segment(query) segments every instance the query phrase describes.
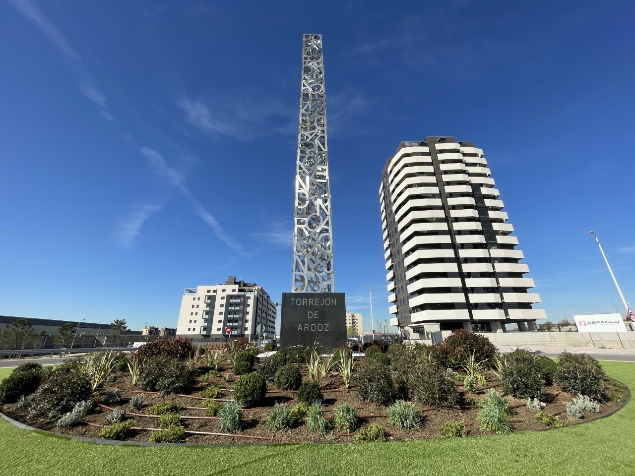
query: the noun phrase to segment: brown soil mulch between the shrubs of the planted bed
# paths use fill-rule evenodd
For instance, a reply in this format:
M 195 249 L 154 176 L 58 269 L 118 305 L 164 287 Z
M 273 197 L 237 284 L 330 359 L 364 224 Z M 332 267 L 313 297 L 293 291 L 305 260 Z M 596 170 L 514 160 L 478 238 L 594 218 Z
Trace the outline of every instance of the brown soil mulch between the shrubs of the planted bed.
M 201 373 L 204 373 L 204 370 L 205 369 L 201 369 Z M 213 380 L 212 383 L 220 383 L 221 388 L 227 389 L 232 388 L 233 381 L 237 378 L 237 376 L 232 375 L 231 369 L 229 368 L 221 371 L 219 373 L 219 376 L 224 377 L 225 380 L 218 378 Z M 502 393 L 502 391 L 498 387 L 498 381 L 495 379 L 495 376 L 492 373 L 486 373 L 486 378 L 486 385 L 477 386 L 476 393 L 474 394 L 466 393 L 465 389 L 461 386 L 462 382 L 457 381 L 457 388 L 462 399 L 467 399 L 468 402 L 470 401 L 470 399 L 478 400 L 482 397 L 487 388 L 496 388 L 499 393 Z M 307 380 L 307 378 L 304 377 L 304 380 Z M 570 393 L 564 392 L 557 385 L 545 387 L 546 397 L 543 399 L 543 401 L 546 403 L 546 407 L 544 407 L 544 411 L 558 416 L 558 419 L 561 420 L 565 426 L 602 418 L 603 416 L 606 416 L 607 414 L 613 413 L 620 409 L 629 399 L 629 391 L 624 390 L 625 387 L 622 384 L 616 382 L 617 381 L 614 381 L 612 379 L 607 380 L 606 388 L 608 397 L 606 401 L 599 402 L 599 413 L 591 413 L 585 411 L 582 419 L 571 418 L 566 414 L 565 404 L 566 402 L 572 401 L 573 397 L 575 397 L 576 395 L 571 395 Z M 203 390 L 206 385 L 208 384 L 197 383 L 194 387 L 190 388 L 190 392 L 188 393 L 188 395 L 197 396 L 197 393 Z M 99 407 L 98 405 L 104 404 L 106 393 L 108 392 L 108 390 L 112 390 L 114 388 L 120 389 L 123 392 L 124 400 L 118 405 L 122 408 L 125 408 L 126 411 L 134 413 L 135 410 L 131 409 L 130 406 L 128 406 L 128 401 L 133 395 L 135 395 L 135 393 L 138 393 L 133 392 L 132 390 L 138 389 L 131 388 L 127 373 L 116 374 L 116 380 L 114 382 L 105 383 L 102 388 L 95 392 L 92 397 L 92 399 L 95 401 L 95 409 L 82 419 L 80 425 L 73 426 L 71 428 L 57 428 L 57 426 L 55 426 L 55 421 L 29 419 L 28 416 L 30 406 L 27 406 L 20 411 L 13 411 L 11 409 L 11 404 L 5 404 L 3 406 L 0 406 L 0 411 L 10 418 L 13 418 L 13 420 L 20 421 L 22 423 L 25 423 L 26 425 L 34 426 L 35 428 L 39 428 L 41 430 L 61 433 L 64 435 L 98 438 L 100 428 L 98 428 L 97 426 L 87 425 L 87 423 L 93 423 L 97 425 L 107 424 L 105 417 L 109 413 L 109 410 L 105 409 L 104 407 Z M 467 428 L 469 436 L 485 435 L 489 433 L 479 430 L 478 421 L 476 421 L 478 409 L 476 409 L 474 406 L 466 405 L 451 409 L 431 409 L 420 406 L 420 410 L 422 411 L 422 414 L 424 416 L 423 424 L 420 430 L 406 432 L 400 430 L 399 428 L 388 426 L 387 418 L 385 416 L 387 411 L 386 407 L 361 402 L 356 396 L 354 388 L 346 390 L 342 385 L 341 380 L 338 380 L 338 378 L 336 377 L 329 378 L 323 381 L 322 392 L 324 393 L 324 405 L 326 405 L 327 412 L 332 411 L 333 407 L 335 407 L 337 404 L 347 402 L 351 406 L 356 407 L 358 414 L 361 417 L 359 421 L 359 427 L 369 425 L 370 423 L 378 423 L 385 428 L 387 432 L 387 440 L 407 441 L 438 438 L 439 426 L 443 425 L 443 423 L 445 423 L 446 421 L 451 420 L 463 421 L 465 427 Z M 232 392 L 225 391 L 222 393 L 224 396 L 220 398 L 231 399 Z M 612 396 L 613 398 L 610 398 Z M 525 406 L 525 400 L 514 399 L 513 397 L 509 396 L 505 398 L 509 400 L 512 408 L 514 408 L 514 416 L 509 420 L 512 422 L 511 425 L 514 432 L 544 430 L 545 428 L 547 428 L 543 423 L 535 420 L 534 416 L 537 412 L 528 409 Z M 614 400 L 620 400 L 620 402 Z M 177 402 L 184 408 L 190 407 L 190 409 L 182 410 L 180 413 L 181 416 L 204 416 L 205 414 L 204 409 L 192 408 L 201 407 L 202 400 L 200 399 L 180 397 L 176 395 L 167 395 L 165 397 L 161 397 L 160 395 L 154 395 L 152 393 L 144 394 L 144 405 L 139 413 L 147 413 L 147 408 L 149 406 L 168 401 Z M 240 432 L 240 434 L 266 437 L 266 439 L 246 439 L 230 436 L 187 434 L 187 439 L 185 440 L 185 442 L 187 444 L 263 444 L 269 442 L 353 442 L 355 440 L 354 434 L 343 435 L 337 429 L 331 430 L 331 433 L 327 433 L 324 436 L 320 436 L 316 433 L 309 433 L 304 424 L 298 425 L 297 427 L 290 428 L 288 430 L 272 432 L 272 430 L 269 430 L 269 428 L 267 428 L 266 418 L 267 414 L 271 411 L 271 408 L 274 406 L 275 402 L 288 402 L 290 404 L 297 404 L 298 400 L 296 393 L 280 392 L 279 390 L 276 390 L 272 383 L 268 383 L 267 395 L 265 399 L 260 402 L 258 406 L 244 409 L 244 418 L 246 420 L 246 425 Z M 327 413 L 327 416 L 328 414 L 329 413 Z M 144 428 L 157 428 L 155 418 L 128 416 L 128 419 L 133 421 L 133 427 L 138 426 Z M 218 420 L 182 420 L 182 425 L 185 427 L 186 431 L 213 433 L 221 432 Z M 126 436 L 126 440 L 133 442 L 147 442 L 149 441 L 150 433 L 151 432 L 144 430 L 130 430 L 130 432 Z

